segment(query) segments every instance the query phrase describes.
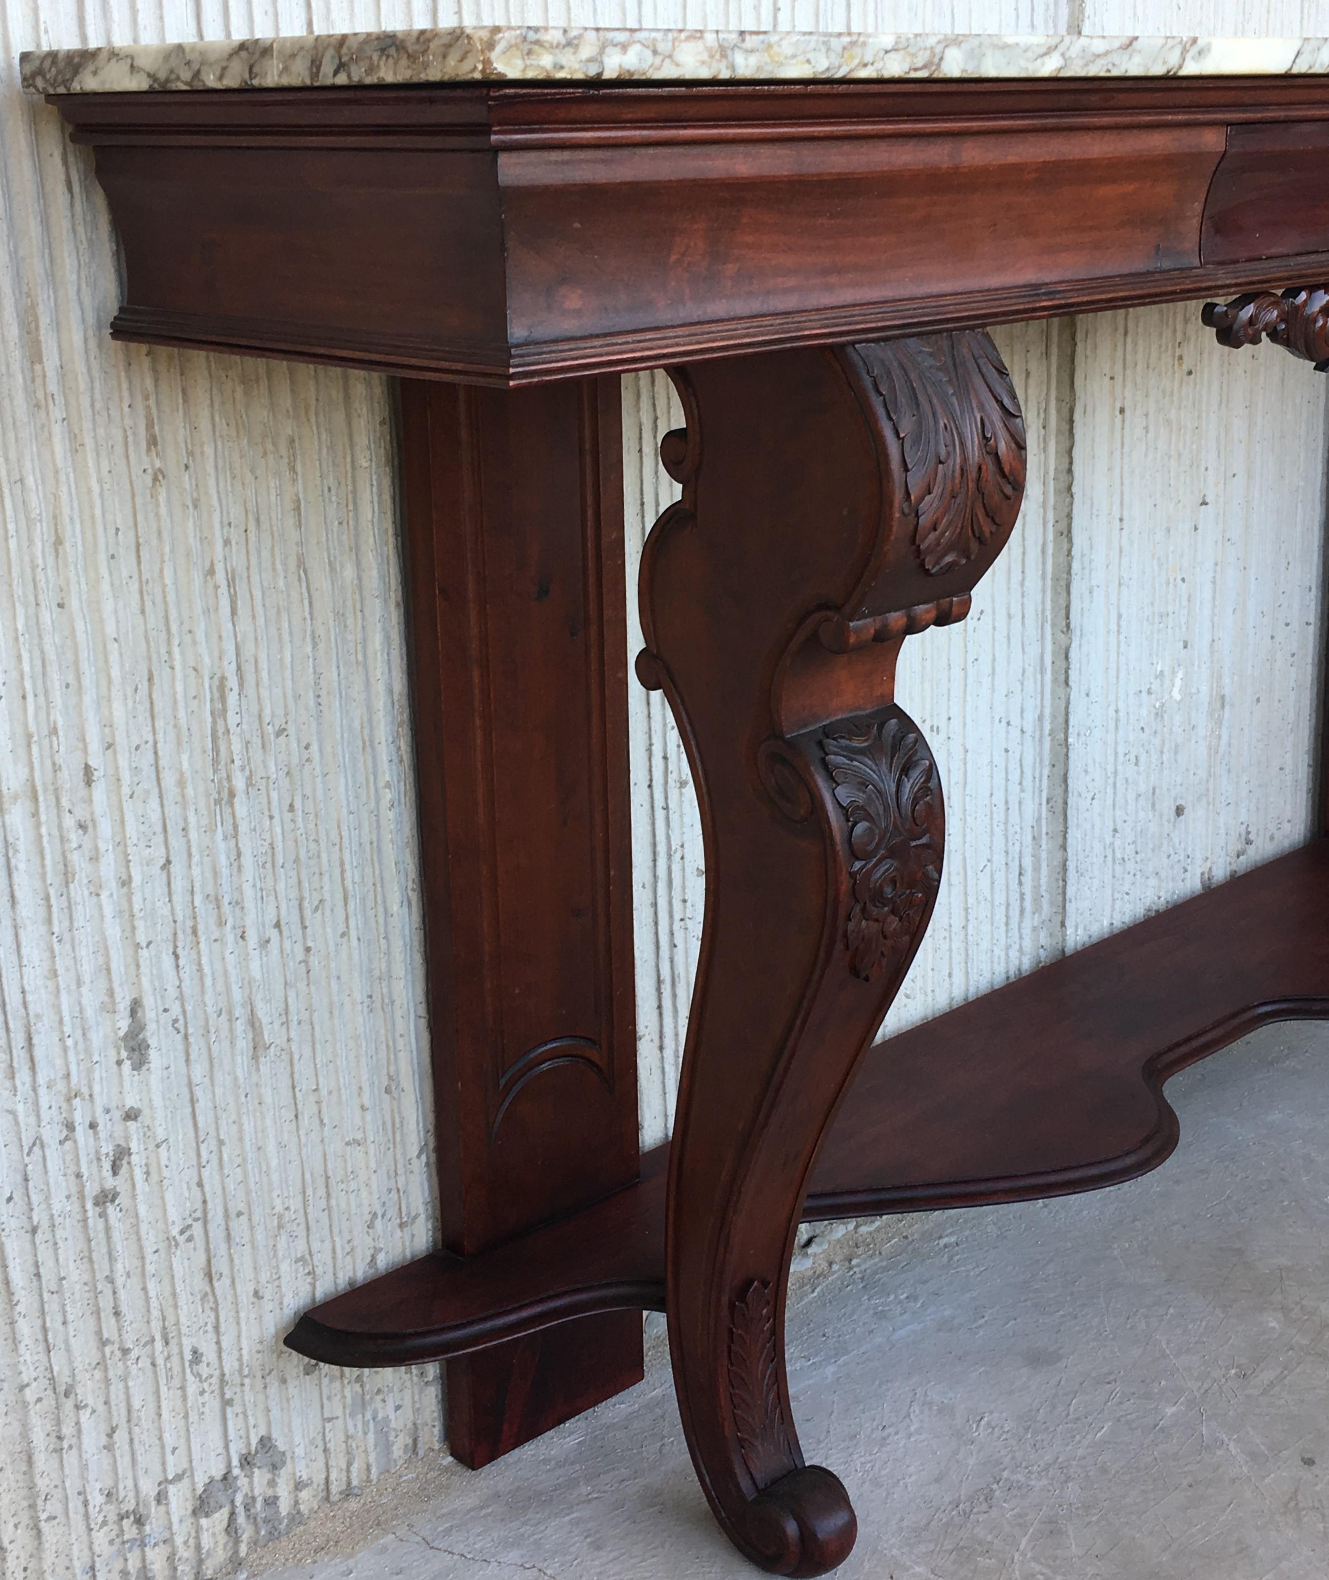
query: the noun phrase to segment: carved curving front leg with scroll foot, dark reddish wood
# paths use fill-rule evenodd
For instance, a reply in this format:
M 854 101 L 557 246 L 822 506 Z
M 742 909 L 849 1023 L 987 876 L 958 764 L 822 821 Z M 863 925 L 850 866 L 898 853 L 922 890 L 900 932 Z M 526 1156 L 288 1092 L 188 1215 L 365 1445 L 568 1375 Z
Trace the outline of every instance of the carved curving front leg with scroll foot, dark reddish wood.
M 774 1574 L 853 1545 L 804 1466 L 784 1302 L 820 1139 L 928 924 L 942 790 L 894 706 L 910 632 L 967 613 L 1015 525 L 1024 433 L 962 332 L 698 363 L 664 444 L 683 501 L 642 566 L 638 676 L 695 774 L 706 920 L 668 1190 L 667 1305 L 697 1473 Z

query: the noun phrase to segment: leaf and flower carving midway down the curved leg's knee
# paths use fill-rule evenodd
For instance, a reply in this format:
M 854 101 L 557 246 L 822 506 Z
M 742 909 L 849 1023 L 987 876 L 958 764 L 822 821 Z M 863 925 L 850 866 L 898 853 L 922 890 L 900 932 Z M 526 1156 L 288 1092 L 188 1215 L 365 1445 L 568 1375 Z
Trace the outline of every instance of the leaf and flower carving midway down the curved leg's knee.
M 937 765 L 899 714 L 838 724 L 823 732 L 822 752 L 849 823 L 849 969 L 872 981 L 913 946 L 942 880 Z

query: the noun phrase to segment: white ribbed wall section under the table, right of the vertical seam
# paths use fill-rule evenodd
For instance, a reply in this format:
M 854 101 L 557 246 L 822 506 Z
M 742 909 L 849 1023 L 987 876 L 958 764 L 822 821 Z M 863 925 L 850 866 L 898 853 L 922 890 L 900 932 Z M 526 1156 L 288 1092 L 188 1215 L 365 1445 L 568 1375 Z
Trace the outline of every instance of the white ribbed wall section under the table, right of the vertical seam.
M 1310 833 L 1326 379 L 1199 307 L 1076 325 L 1070 946 Z

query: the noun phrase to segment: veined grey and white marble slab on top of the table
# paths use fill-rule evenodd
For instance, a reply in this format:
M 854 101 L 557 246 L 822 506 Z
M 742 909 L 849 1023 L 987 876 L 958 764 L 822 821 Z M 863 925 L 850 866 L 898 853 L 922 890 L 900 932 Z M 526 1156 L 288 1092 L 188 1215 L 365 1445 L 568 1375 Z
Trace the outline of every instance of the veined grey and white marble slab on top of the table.
M 447 27 L 32 51 L 30 93 L 408 82 L 787 82 L 1329 74 L 1329 38 Z

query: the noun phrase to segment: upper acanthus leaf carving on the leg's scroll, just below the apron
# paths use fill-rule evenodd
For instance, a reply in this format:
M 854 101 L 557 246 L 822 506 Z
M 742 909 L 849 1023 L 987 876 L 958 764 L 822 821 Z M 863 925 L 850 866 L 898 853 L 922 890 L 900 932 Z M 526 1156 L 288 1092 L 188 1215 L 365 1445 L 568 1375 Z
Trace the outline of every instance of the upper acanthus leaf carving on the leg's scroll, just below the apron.
M 1015 526 L 1024 496 L 1024 417 L 981 329 L 857 348 L 904 453 L 923 569 L 969 564 Z

